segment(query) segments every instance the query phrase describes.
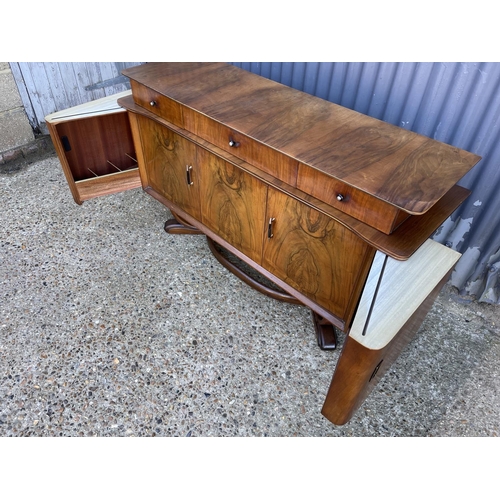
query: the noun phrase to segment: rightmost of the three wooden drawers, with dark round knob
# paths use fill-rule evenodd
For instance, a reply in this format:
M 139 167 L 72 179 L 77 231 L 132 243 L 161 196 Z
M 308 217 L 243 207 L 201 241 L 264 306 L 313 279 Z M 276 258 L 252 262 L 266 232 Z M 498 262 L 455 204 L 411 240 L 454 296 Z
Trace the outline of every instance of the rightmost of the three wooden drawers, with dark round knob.
M 391 234 L 410 214 L 299 163 L 297 188 L 385 234 Z

